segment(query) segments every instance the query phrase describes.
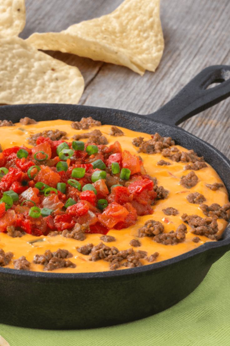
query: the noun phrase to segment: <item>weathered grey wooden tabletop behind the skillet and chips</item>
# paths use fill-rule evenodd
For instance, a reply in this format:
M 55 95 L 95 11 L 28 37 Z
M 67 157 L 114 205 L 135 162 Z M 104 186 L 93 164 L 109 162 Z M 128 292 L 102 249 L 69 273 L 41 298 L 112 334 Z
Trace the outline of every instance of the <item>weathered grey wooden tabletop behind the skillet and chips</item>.
M 61 31 L 82 20 L 113 11 L 122 0 L 26 0 L 27 23 L 20 37 Z M 165 49 L 155 73 L 143 77 L 126 67 L 76 55 L 48 52 L 77 66 L 85 90 L 80 104 L 140 114 L 157 110 L 209 65 L 230 65 L 229 0 L 161 0 Z M 180 126 L 206 140 L 230 158 L 230 99 Z

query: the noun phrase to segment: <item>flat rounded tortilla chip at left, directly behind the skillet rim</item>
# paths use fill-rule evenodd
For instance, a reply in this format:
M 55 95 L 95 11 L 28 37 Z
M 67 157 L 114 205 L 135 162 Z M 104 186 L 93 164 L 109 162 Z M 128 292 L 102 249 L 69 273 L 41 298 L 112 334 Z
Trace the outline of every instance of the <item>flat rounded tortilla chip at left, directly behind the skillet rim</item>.
M 78 103 L 84 80 L 77 67 L 16 36 L 0 36 L 0 47 L 0 103 Z

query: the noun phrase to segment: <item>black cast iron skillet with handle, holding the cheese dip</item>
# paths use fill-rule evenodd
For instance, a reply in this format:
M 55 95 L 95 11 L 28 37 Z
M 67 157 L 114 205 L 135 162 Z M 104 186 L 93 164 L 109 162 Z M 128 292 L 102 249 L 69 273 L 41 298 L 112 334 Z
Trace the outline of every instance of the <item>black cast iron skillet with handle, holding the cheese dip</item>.
M 32 104 L 3 106 L 0 118 L 17 122 L 25 116 L 36 120 L 80 120 L 92 116 L 104 124 L 150 134 L 159 132 L 203 155 L 230 192 L 229 160 L 211 145 L 175 126 L 227 98 L 229 76 L 230 66 L 210 66 L 148 116 L 68 104 Z M 207 89 L 214 82 L 221 84 Z M 230 227 L 219 242 L 205 243 L 167 261 L 122 271 L 60 274 L 0 268 L 0 322 L 71 329 L 109 326 L 147 317 L 185 298 L 229 249 Z

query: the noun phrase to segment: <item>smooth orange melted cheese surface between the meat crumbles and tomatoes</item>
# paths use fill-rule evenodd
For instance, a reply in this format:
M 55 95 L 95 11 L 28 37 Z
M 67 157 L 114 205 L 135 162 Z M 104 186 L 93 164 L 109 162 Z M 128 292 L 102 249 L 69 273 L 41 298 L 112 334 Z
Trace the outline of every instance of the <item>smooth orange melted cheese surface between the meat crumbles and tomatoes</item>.
M 91 127 L 89 130 L 75 130 L 71 126 L 71 121 L 67 120 L 52 120 L 52 121 L 41 121 L 37 124 L 32 125 L 21 125 L 16 124 L 16 126 L 12 127 L 0 127 L 0 143 L 2 149 L 12 147 L 12 146 L 21 146 L 28 145 L 27 138 L 34 133 L 39 133 L 44 130 L 55 130 L 59 129 L 67 132 L 67 137 L 71 142 L 71 137 L 77 133 L 85 133 L 92 131 L 93 129 L 100 129 L 100 131 L 105 135 L 108 139 L 109 144 L 114 143 L 118 140 L 122 146 L 123 150 L 128 150 L 132 154 L 137 154 L 137 148 L 133 146 L 132 139 L 135 137 L 144 137 L 144 139 L 148 140 L 151 138 L 150 135 L 145 133 L 138 133 L 131 131 L 129 129 L 120 128 L 124 136 L 114 137 L 110 136 L 109 132 L 111 129 L 110 125 L 102 125 L 100 127 Z M 176 146 L 180 151 L 187 151 L 181 146 Z M 192 149 L 192 148 L 189 148 Z M 153 208 L 153 214 L 147 216 L 138 217 L 137 223 L 129 228 L 115 230 L 111 229 L 108 235 L 114 236 L 116 238 L 115 242 L 105 243 L 108 246 L 116 246 L 119 250 L 125 250 L 130 248 L 129 242 L 131 239 L 139 239 L 141 242 L 141 246 L 138 248 L 134 248 L 134 250 L 142 250 L 147 251 L 148 256 L 153 254 L 154 252 L 159 252 L 159 256 L 157 261 L 167 260 L 171 257 L 178 256 L 184 252 L 190 251 L 205 242 L 210 242 L 207 237 L 199 236 L 201 241 L 199 243 L 192 242 L 192 238 L 194 234 L 191 233 L 191 228 L 187 226 L 188 233 L 186 234 L 186 240 L 183 243 L 179 243 L 177 245 L 162 245 L 154 242 L 151 237 L 142 237 L 138 238 L 138 229 L 144 225 L 144 223 L 153 219 L 156 221 L 162 222 L 164 225 L 164 229 L 166 232 L 171 230 L 176 231 L 177 227 L 182 223 L 181 215 L 183 213 L 187 213 L 188 215 L 197 214 L 201 217 L 205 217 L 203 212 L 199 209 L 199 204 L 189 203 L 186 197 L 191 192 L 199 192 L 204 195 L 206 198 L 206 204 L 210 205 L 212 203 L 218 203 L 221 206 L 228 202 L 228 194 L 225 187 L 220 188 L 217 191 L 212 191 L 207 188 L 206 184 L 213 183 L 221 183 L 221 179 L 214 171 L 214 169 L 208 165 L 206 168 L 202 168 L 201 170 L 196 171 L 196 175 L 199 178 L 199 181 L 196 186 L 191 189 L 186 189 L 179 184 L 181 176 L 188 174 L 190 171 L 185 171 L 183 167 L 186 163 L 182 162 L 173 162 L 168 158 L 164 158 L 161 154 L 138 154 L 143 159 L 143 165 L 146 169 L 147 174 L 150 176 L 156 177 L 158 180 L 158 185 L 162 185 L 165 189 L 169 190 L 168 198 L 165 200 L 159 200 L 156 202 Z M 170 161 L 171 165 L 169 166 L 159 166 L 157 162 L 161 159 L 166 161 Z M 162 209 L 167 207 L 176 208 L 179 211 L 177 216 L 167 216 L 163 213 Z M 168 222 L 165 222 L 168 221 Z M 218 219 L 218 234 L 222 234 L 223 230 L 227 226 L 227 221 L 223 219 Z M 92 243 L 93 245 L 97 245 L 101 242 L 100 234 L 87 234 L 87 237 L 83 241 L 64 238 L 61 235 L 49 237 L 49 236 L 41 236 L 35 237 L 29 234 L 22 236 L 21 238 L 12 238 L 7 234 L 0 233 L 0 248 L 2 248 L 5 252 L 11 251 L 14 256 L 11 260 L 10 264 L 7 266 L 9 268 L 13 268 L 13 260 L 19 258 L 20 256 L 26 256 L 27 260 L 31 262 L 31 270 L 32 271 L 42 271 L 43 266 L 38 264 L 33 264 L 33 257 L 36 254 L 43 254 L 47 249 L 50 249 L 52 252 L 56 251 L 58 248 L 64 248 L 69 250 L 73 257 L 70 260 L 76 264 L 76 268 L 60 268 L 54 270 L 53 272 L 98 272 L 98 271 L 108 271 L 109 262 L 104 260 L 99 260 L 96 262 L 89 261 L 90 256 L 85 256 L 77 252 L 76 247 L 81 247 L 82 245 L 86 245 L 88 243 Z M 31 240 L 41 241 L 30 244 Z M 141 259 L 142 264 L 150 264 L 147 260 Z M 119 268 L 119 270 L 124 269 L 125 267 Z

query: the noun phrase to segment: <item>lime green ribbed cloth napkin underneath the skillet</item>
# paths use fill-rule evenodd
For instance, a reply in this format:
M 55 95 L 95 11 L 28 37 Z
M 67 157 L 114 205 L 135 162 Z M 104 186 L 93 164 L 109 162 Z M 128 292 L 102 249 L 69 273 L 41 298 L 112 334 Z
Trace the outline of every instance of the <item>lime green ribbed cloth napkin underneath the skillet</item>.
M 186 299 L 157 315 L 114 327 L 39 330 L 0 324 L 10 346 L 229 346 L 230 252 Z

